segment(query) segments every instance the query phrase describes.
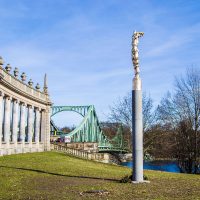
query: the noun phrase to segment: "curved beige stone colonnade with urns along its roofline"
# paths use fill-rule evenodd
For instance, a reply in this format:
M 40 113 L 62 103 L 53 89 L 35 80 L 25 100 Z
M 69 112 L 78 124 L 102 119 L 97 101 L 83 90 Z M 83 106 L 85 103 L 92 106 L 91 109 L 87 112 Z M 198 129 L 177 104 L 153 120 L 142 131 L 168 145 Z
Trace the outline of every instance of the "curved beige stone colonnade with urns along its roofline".
M 46 75 L 44 88 L 33 87 L 17 68 L 11 74 L 0 57 L 0 155 L 50 150 L 51 101 Z

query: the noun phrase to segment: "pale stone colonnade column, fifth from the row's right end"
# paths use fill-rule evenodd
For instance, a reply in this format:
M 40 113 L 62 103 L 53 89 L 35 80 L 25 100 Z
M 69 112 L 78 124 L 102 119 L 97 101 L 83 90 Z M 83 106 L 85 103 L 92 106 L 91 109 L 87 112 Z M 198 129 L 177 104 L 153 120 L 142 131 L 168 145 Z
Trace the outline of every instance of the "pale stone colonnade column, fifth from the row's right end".
M 6 148 L 9 148 L 10 144 L 10 97 L 5 97 L 5 117 L 4 117 L 4 141 L 6 142 Z

